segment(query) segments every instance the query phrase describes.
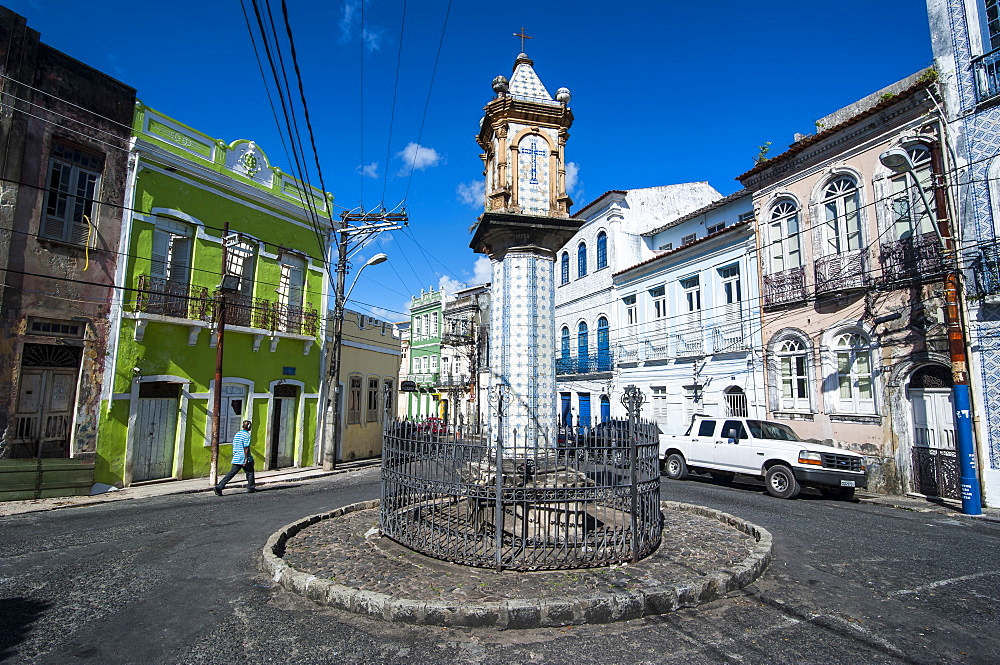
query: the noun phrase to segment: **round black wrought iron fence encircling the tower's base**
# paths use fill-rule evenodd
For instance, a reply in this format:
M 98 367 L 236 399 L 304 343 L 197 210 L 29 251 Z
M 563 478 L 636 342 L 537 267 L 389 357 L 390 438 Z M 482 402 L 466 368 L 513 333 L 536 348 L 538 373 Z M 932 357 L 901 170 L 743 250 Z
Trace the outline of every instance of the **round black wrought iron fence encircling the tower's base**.
M 390 423 L 382 533 L 428 556 L 498 570 L 634 562 L 659 546 L 654 423 L 559 428 L 538 440 L 504 441 L 499 431 Z

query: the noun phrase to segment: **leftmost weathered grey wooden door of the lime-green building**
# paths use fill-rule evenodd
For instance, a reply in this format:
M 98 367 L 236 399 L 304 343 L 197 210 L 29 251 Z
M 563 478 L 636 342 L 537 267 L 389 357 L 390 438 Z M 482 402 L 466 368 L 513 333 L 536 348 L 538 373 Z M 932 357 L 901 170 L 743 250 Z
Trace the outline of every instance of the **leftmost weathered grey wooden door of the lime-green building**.
M 173 475 L 178 400 L 172 397 L 139 399 L 135 420 L 132 480 L 155 480 Z

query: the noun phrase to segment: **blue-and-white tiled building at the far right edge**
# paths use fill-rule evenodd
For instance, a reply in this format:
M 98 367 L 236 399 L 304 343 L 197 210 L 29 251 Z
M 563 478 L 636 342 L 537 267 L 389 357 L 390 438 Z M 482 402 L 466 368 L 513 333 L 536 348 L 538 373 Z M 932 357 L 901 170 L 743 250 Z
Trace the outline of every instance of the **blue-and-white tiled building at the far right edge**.
M 927 0 L 949 136 L 983 499 L 1000 505 L 1000 5 Z

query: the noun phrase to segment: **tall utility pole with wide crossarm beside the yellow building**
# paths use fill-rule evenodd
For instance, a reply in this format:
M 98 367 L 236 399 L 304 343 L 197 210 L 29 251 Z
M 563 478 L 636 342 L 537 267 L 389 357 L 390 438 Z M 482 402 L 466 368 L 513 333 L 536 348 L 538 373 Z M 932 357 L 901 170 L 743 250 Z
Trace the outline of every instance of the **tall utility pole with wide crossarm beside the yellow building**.
M 329 374 L 329 380 L 333 383 L 333 436 L 323 439 L 323 469 L 326 471 L 332 471 L 336 467 L 337 453 L 343 443 L 341 411 L 344 409 L 344 398 L 340 390 L 340 366 L 341 344 L 344 338 L 344 307 L 347 304 L 344 287 L 347 281 L 347 270 L 350 267 L 348 259 L 352 250 L 364 247 L 382 231 L 403 228 L 408 221 L 405 210 L 388 212 L 384 209 L 375 212 L 351 210 L 342 213 L 340 218 L 342 226 L 339 229 L 334 229 L 334 232 L 338 234 L 337 283 L 334 287 L 333 305 L 333 359 L 330 362 Z M 382 258 L 385 258 L 384 255 Z

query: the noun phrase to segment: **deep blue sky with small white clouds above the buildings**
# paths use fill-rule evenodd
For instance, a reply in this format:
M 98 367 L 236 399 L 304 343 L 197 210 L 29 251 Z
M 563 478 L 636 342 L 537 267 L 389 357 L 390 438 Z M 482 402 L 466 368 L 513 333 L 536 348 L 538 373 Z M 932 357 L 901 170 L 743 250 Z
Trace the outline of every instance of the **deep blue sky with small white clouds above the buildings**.
M 0 3 L 149 106 L 227 142 L 255 140 L 293 170 L 239 0 Z M 521 26 L 542 82 L 573 94 L 574 209 L 609 189 L 678 182 L 729 194 L 765 141 L 780 153 L 818 118 L 932 64 L 920 0 L 288 0 L 288 11 L 337 212 L 400 202 L 409 212 L 408 229 L 352 262 L 389 255 L 362 273 L 349 306 L 390 320 L 406 318 L 421 289 L 488 276 L 468 246 L 482 211 L 474 137 Z

